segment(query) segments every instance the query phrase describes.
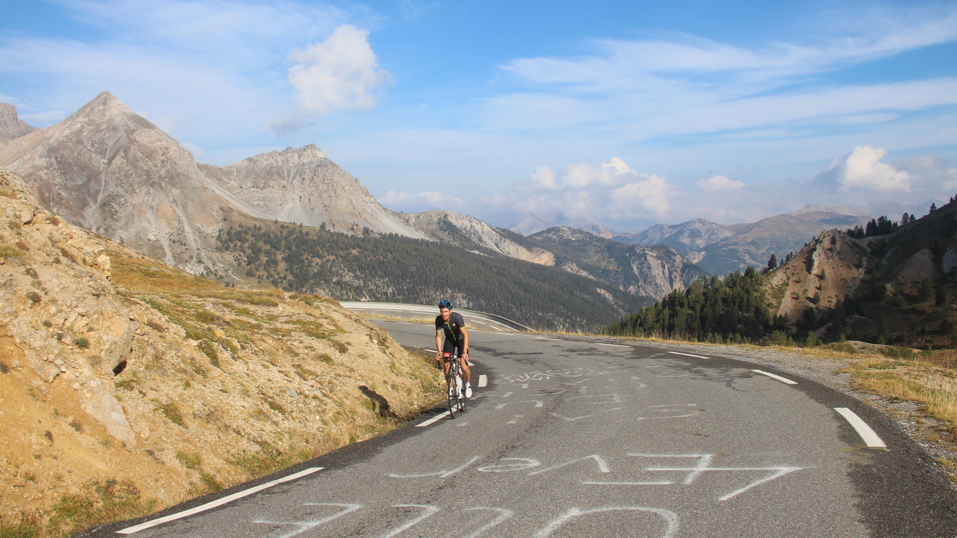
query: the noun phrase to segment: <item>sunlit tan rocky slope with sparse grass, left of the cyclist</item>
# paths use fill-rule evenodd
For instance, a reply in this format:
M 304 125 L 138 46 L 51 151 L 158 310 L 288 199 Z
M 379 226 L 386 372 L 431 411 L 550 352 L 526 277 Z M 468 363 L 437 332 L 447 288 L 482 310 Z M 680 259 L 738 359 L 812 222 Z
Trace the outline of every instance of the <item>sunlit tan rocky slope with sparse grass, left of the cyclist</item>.
M 438 390 L 334 301 L 170 269 L 2 169 L 0 221 L 5 532 L 162 509 L 387 431 Z

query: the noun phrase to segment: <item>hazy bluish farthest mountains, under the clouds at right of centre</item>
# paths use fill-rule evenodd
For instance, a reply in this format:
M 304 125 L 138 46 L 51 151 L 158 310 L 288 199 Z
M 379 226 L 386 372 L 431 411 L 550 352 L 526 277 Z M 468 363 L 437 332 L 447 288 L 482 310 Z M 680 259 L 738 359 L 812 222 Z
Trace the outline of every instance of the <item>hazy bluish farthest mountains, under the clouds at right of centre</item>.
M 853 228 L 872 218 L 839 206 L 806 206 L 758 222 L 721 225 L 701 218 L 673 226 L 658 224 L 634 235 L 615 235 L 628 244 L 667 244 L 709 273 L 723 275 L 748 265 L 762 267 L 770 256 L 800 250 L 824 230 Z

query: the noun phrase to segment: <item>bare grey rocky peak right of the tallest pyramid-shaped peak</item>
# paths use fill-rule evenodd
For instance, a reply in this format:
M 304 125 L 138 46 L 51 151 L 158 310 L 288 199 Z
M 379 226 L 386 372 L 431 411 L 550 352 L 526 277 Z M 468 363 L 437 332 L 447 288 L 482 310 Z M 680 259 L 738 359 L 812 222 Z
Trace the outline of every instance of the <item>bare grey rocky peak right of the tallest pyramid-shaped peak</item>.
M 310 144 L 250 157 L 229 167 L 201 165 L 245 213 L 348 234 L 424 235 L 403 226 L 352 174 Z

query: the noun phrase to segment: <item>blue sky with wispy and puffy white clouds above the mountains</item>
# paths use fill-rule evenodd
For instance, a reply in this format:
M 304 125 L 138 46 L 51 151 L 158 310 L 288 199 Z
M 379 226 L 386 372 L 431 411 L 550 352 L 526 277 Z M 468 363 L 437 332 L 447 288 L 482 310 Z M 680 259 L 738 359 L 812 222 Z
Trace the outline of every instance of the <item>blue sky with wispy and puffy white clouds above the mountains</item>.
M 0 101 L 109 90 L 201 162 L 316 143 L 391 209 L 500 225 L 957 192 L 953 2 L 659 4 L 6 2 Z

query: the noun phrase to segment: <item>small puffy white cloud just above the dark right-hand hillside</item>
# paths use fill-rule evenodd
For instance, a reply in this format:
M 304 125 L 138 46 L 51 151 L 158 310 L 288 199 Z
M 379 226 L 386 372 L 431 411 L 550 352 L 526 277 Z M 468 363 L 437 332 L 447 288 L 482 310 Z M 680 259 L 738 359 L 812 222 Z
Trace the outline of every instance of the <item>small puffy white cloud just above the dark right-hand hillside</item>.
M 887 163 L 881 163 L 887 152 L 871 145 L 857 146 L 843 161 L 832 163 L 838 191 L 910 191 L 910 174 Z

